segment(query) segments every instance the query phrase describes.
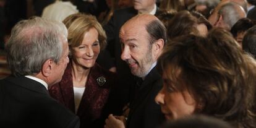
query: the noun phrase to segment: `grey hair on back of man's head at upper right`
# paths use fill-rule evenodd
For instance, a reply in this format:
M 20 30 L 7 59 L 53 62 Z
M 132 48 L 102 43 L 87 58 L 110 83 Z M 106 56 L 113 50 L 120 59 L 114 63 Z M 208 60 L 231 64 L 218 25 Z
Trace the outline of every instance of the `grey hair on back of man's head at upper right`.
M 221 6 L 218 14 L 223 16 L 224 22 L 228 24 L 230 29 L 239 19 L 244 18 L 241 17 L 241 13 L 239 11 L 244 11 L 243 8 L 239 6 L 239 4 L 228 2 Z

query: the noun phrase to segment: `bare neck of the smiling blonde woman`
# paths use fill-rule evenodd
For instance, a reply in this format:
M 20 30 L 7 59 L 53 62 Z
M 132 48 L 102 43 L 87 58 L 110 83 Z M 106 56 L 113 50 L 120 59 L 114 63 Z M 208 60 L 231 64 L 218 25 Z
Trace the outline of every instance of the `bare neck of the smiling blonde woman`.
M 89 73 L 90 73 L 90 69 L 85 69 L 84 67 L 77 66 L 75 62 L 72 62 L 73 80 L 77 82 L 82 82 L 87 79 Z

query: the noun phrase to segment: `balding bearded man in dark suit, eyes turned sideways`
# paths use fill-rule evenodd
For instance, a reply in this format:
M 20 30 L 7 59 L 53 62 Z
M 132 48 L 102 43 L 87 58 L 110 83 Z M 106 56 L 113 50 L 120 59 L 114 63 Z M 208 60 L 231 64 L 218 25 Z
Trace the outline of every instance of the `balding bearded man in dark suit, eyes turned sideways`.
M 164 121 L 155 96 L 163 86 L 156 61 L 166 43 L 166 28 L 154 15 L 142 14 L 128 20 L 120 30 L 122 60 L 130 72 L 140 79 L 132 86 L 132 100 L 127 121 L 110 114 L 105 127 L 153 128 Z M 124 123 L 122 123 L 122 120 Z

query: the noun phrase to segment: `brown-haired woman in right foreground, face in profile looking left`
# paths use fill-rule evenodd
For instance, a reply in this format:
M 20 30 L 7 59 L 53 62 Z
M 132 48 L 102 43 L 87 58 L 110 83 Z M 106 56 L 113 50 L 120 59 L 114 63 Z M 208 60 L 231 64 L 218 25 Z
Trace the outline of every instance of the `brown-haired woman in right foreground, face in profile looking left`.
M 170 41 L 158 67 L 163 88 L 155 100 L 166 119 L 205 114 L 236 128 L 255 127 L 256 62 L 226 30 Z

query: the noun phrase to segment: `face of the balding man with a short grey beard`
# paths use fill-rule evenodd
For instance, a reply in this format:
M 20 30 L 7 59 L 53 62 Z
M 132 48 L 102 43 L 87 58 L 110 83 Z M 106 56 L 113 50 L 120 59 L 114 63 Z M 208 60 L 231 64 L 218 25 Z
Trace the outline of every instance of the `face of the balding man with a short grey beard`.
M 153 62 L 154 51 L 148 38 L 145 25 L 134 26 L 134 23 L 124 25 L 120 30 L 122 46 L 122 60 L 126 61 L 132 74 L 137 77 L 145 77 Z

